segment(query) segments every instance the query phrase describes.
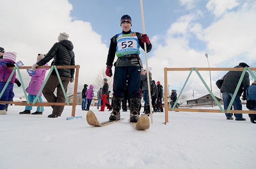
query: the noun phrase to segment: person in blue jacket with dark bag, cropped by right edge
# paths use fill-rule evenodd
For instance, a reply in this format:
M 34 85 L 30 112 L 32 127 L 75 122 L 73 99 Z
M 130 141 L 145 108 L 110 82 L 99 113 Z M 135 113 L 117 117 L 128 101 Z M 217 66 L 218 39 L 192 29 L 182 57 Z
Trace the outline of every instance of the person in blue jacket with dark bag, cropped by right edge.
M 256 111 L 256 81 L 254 80 L 251 86 L 246 89 L 246 107 L 249 110 Z M 256 124 L 256 114 L 248 114 L 252 123 Z

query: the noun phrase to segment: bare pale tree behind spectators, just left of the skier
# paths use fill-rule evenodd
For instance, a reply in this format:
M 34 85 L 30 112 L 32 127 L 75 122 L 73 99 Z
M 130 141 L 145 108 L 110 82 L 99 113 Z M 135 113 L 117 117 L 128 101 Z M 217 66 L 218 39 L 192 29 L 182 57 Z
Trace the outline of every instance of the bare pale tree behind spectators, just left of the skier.
M 114 72 L 113 72 L 114 74 Z M 98 75 L 95 78 L 95 81 L 93 83 L 93 86 L 95 89 L 99 89 L 103 86 L 103 79 L 107 78 L 107 83 L 108 83 L 108 90 L 113 91 L 113 76 L 110 78 L 105 74 L 105 69 L 102 69 L 99 71 Z

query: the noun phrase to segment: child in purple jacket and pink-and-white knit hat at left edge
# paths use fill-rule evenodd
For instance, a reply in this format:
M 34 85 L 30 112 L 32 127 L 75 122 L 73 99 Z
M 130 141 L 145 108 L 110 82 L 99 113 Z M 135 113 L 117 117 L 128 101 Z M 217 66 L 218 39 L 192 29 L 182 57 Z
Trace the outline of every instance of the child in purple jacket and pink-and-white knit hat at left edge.
M 10 77 L 13 69 L 6 69 L 8 67 L 15 67 L 14 63 L 16 62 L 16 52 L 5 52 L 3 54 L 3 59 L 0 59 L 0 93 L 3 91 L 3 88 Z M 10 79 L 8 86 L 5 88 L 3 95 L 0 98 L 0 101 L 12 101 L 14 97 L 13 93 L 13 83 L 16 83 L 18 87 L 21 86 L 21 83 L 16 78 L 16 72 Z M 0 114 L 7 114 L 5 107 L 7 104 L 0 103 Z

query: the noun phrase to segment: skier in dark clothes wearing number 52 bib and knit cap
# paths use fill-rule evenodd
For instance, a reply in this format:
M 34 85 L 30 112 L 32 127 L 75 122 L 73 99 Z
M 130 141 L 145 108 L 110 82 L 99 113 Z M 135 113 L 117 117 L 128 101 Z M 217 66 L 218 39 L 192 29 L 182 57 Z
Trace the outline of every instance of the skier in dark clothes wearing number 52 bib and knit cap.
M 110 121 L 120 119 L 120 107 L 123 94 L 125 92 L 125 83 L 128 83 L 129 97 L 131 98 L 130 122 L 138 121 L 138 108 L 141 102 L 140 78 L 142 61 L 139 57 L 140 47 L 150 52 L 152 44 L 146 34 L 132 32 L 132 21 L 129 15 L 123 15 L 120 20 L 122 33 L 118 33 L 110 40 L 110 48 L 107 55 L 106 75 L 112 76 L 112 66 L 117 55 L 118 59 L 114 63 L 114 84 L 113 84 L 113 111 L 110 114 Z

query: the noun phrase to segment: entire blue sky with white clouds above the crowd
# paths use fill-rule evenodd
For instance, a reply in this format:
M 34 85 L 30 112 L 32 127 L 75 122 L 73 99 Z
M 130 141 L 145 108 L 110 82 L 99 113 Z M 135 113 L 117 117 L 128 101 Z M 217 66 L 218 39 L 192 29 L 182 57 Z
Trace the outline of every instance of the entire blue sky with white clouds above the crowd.
M 144 0 L 143 9 L 153 46 L 148 65 L 155 81 L 164 83 L 165 67 L 208 67 L 205 53 L 210 67 L 231 68 L 240 62 L 251 66 L 255 61 L 255 0 Z M 26 66 L 35 63 L 37 53 L 46 54 L 60 32 L 70 35 L 76 64 L 81 66 L 78 90 L 84 83 L 93 84 L 106 68 L 110 38 L 122 31 L 122 15 L 131 16 L 131 30 L 143 33 L 140 0 L 8 0 L 0 11 L 0 46 L 16 51 L 17 61 Z M 145 53 L 140 57 L 146 67 Z M 179 92 L 188 73 L 168 72 L 170 89 Z M 211 72 L 215 93 L 215 81 L 225 73 Z M 184 94 L 190 97 L 193 89 L 195 96 L 207 93 L 193 74 Z M 201 75 L 210 86 L 209 72 Z

